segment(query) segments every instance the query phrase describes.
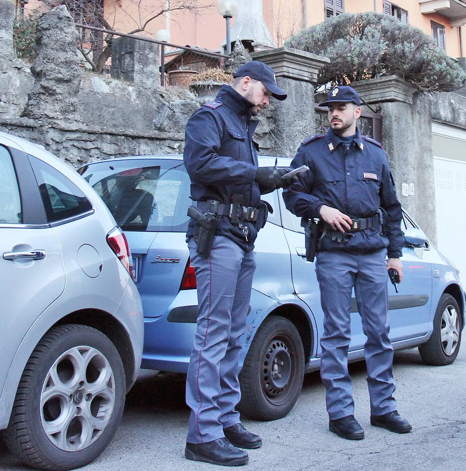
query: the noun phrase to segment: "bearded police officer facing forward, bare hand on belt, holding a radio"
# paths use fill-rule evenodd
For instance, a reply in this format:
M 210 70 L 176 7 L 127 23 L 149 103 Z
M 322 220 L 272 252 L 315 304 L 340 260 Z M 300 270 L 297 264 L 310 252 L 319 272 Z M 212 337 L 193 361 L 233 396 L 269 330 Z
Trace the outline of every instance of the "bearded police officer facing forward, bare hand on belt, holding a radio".
M 321 377 L 329 430 L 345 439 L 364 438 L 364 430 L 354 418 L 348 374 L 354 287 L 367 336 L 364 356 L 370 423 L 406 433 L 411 425 L 396 411 L 393 397 L 387 294 L 387 268 L 394 268 L 402 279 L 401 205 L 385 151 L 356 127 L 361 115 L 357 92 L 335 87 L 320 106 L 328 106 L 330 128 L 324 136 L 303 141 L 291 168 L 305 164 L 310 170 L 283 192 L 283 198 L 297 216 L 321 220 L 316 273 L 324 312 Z

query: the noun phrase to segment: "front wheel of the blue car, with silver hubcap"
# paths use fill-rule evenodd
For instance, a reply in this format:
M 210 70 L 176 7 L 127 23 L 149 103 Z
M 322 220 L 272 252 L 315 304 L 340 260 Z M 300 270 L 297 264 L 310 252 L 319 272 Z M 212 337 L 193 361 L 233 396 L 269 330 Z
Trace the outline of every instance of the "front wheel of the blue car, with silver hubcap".
M 458 356 L 462 320 L 455 298 L 442 294 L 434 317 L 430 339 L 419 345 L 419 353 L 427 365 L 450 365 Z

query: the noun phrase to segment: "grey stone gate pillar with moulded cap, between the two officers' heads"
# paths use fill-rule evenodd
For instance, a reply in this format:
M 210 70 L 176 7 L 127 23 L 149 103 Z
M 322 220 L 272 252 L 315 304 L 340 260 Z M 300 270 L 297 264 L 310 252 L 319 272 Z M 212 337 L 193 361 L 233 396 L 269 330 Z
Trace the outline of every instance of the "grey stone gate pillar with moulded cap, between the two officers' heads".
M 284 101 L 272 98 L 275 108 L 270 155 L 294 157 L 306 137 L 315 132 L 314 85 L 327 57 L 293 48 L 278 48 L 251 54 L 272 67 L 278 86 L 288 94 Z

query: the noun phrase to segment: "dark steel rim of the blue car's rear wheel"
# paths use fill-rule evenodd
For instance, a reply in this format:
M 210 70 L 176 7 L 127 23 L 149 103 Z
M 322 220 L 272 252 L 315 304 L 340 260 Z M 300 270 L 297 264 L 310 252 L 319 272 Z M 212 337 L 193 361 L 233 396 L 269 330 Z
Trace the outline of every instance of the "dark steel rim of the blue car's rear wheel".
M 264 350 L 261 385 L 265 397 L 275 405 L 283 402 L 292 376 L 291 354 L 285 339 L 273 338 Z

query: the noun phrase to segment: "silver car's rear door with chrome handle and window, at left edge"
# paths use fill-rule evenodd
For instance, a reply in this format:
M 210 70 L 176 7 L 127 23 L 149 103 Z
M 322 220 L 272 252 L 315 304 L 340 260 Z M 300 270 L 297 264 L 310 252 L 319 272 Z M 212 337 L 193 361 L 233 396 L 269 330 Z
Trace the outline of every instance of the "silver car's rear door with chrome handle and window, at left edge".
M 29 160 L 1 144 L 0 279 L 1 389 L 25 333 L 65 287 L 60 247 Z

